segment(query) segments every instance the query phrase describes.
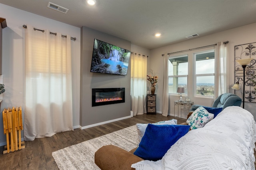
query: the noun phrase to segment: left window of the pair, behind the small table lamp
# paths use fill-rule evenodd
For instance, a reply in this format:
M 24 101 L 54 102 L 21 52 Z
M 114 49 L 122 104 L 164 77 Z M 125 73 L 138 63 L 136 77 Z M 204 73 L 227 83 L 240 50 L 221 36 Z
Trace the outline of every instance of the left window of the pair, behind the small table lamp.
M 177 93 L 178 87 L 188 90 L 188 55 L 170 57 L 168 61 L 168 90 Z

